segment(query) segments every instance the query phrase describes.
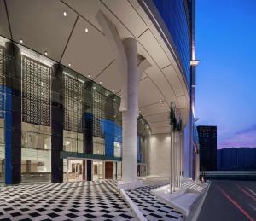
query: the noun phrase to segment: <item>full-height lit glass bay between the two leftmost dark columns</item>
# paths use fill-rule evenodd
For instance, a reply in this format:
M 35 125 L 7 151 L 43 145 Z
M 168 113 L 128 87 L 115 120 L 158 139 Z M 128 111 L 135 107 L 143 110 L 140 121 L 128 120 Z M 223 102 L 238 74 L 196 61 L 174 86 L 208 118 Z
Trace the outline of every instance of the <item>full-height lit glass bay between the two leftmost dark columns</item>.
M 22 48 L 21 48 L 22 51 Z M 21 182 L 50 182 L 51 63 L 37 53 L 21 55 Z

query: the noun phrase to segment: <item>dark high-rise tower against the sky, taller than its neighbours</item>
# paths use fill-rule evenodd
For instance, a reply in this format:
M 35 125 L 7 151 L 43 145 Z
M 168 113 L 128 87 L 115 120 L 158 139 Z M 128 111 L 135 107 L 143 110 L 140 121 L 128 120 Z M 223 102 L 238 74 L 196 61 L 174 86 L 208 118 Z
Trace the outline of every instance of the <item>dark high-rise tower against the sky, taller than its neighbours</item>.
M 215 171 L 217 166 L 217 126 L 197 126 L 200 146 L 200 169 Z

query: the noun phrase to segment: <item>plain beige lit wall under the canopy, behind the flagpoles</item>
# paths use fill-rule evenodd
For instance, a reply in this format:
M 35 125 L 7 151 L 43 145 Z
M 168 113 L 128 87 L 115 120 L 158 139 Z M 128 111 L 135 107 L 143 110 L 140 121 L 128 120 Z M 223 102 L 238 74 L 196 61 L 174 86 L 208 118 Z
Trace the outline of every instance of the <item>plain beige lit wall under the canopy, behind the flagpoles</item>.
M 152 135 L 149 140 L 148 175 L 170 177 L 170 134 Z

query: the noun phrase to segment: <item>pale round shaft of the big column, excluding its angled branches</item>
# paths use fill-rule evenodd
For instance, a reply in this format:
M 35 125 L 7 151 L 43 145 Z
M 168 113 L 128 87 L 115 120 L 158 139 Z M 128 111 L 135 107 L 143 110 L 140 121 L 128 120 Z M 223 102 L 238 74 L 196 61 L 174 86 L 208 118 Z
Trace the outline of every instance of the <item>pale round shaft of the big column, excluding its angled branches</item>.
M 137 181 L 137 110 L 138 110 L 138 78 L 137 78 L 137 41 L 125 38 L 123 41 L 127 59 L 127 110 L 123 112 L 123 166 L 122 181 Z

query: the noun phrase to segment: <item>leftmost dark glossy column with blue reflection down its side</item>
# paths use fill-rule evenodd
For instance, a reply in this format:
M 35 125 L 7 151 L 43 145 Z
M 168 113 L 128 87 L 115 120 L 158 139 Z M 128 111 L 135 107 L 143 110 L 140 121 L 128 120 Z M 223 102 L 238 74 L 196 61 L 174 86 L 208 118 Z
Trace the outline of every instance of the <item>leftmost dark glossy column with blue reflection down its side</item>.
M 5 183 L 20 183 L 21 172 L 21 53 L 5 44 Z

